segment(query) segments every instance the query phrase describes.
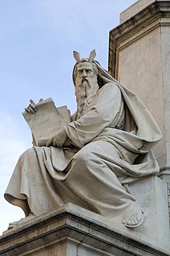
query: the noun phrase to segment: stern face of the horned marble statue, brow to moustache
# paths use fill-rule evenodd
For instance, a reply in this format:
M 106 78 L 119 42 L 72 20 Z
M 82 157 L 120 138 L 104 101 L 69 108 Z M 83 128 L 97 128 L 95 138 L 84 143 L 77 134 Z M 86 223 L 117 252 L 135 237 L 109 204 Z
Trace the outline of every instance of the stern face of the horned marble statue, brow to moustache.
M 89 80 L 97 82 L 97 75 L 94 73 L 92 63 L 81 62 L 77 66 L 76 81 L 79 82 L 80 80 L 82 80 L 82 82 L 84 82 L 86 78 L 89 78 Z

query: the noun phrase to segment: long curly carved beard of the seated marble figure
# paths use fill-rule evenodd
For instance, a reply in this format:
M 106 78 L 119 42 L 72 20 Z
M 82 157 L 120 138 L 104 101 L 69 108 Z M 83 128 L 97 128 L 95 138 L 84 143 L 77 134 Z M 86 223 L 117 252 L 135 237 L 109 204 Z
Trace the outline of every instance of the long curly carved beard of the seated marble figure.
M 87 77 L 85 80 L 80 80 L 76 85 L 75 95 L 77 102 L 77 119 L 81 118 L 85 114 L 88 104 L 92 101 L 92 98 L 96 95 L 99 89 L 98 83 L 89 80 Z

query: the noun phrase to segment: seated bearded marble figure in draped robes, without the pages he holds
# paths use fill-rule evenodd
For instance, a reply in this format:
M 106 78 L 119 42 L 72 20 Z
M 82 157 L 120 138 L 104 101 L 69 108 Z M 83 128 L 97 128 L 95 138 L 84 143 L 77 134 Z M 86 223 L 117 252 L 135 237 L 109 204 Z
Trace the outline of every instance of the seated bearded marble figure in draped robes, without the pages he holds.
M 95 56 L 92 51 L 81 59 L 74 52 L 77 111 L 72 122 L 19 158 L 5 198 L 22 208 L 25 218 L 9 228 L 68 202 L 113 221 L 123 212 L 122 225 L 128 228 L 142 224 L 142 209 L 128 184 L 158 174 L 152 147 L 162 134 L 138 97 Z M 34 102 L 26 110 L 33 115 Z

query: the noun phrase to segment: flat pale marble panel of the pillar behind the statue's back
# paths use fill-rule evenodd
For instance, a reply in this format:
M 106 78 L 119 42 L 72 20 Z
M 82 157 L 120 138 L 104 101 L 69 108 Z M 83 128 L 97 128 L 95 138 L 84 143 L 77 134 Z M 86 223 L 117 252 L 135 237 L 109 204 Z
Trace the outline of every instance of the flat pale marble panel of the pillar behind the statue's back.
M 131 39 L 128 44 L 129 41 L 124 41 L 119 46 L 118 80 L 122 83 L 126 82 L 127 87 L 139 95 L 158 122 L 163 138 L 154 152 L 158 163 L 162 166 L 167 150 L 164 147 L 166 138 L 160 28 L 150 30 L 149 33 L 144 31 L 140 39 Z

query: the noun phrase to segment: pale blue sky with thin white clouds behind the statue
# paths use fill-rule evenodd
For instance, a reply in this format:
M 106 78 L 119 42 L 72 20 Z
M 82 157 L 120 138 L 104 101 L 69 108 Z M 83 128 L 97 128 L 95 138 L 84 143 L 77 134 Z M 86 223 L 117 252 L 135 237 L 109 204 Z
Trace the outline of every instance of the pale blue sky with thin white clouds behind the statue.
M 19 156 L 32 147 L 22 112 L 32 98 L 52 97 L 76 111 L 72 52 L 108 69 L 109 30 L 135 0 L 0 0 L 0 235 L 24 217 L 4 198 Z

